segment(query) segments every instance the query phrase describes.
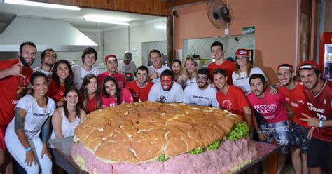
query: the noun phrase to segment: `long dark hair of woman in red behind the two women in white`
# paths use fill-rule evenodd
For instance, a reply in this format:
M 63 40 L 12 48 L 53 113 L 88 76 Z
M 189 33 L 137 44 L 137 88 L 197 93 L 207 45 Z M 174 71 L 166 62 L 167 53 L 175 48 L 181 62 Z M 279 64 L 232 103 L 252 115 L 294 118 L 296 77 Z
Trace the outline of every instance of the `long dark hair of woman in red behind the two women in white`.
M 57 88 L 61 87 L 60 78 L 59 78 L 59 76 L 57 76 L 57 67 L 59 67 L 60 63 L 66 64 L 69 69 L 69 75 L 67 76 L 66 81 L 64 81 L 64 86 L 66 86 L 66 87 L 74 86 L 74 72 L 71 69 L 71 66 L 70 66 L 70 63 L 68 62 L 68 60 L 63 60 L 63 59 L 55 62 L 55 65 L 52 69 L 52 79 L 55 82 L 55 85 L 57 86 Z

